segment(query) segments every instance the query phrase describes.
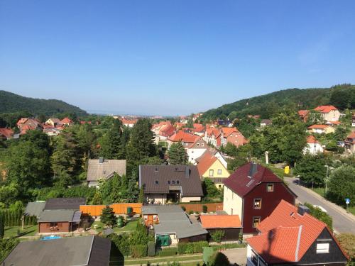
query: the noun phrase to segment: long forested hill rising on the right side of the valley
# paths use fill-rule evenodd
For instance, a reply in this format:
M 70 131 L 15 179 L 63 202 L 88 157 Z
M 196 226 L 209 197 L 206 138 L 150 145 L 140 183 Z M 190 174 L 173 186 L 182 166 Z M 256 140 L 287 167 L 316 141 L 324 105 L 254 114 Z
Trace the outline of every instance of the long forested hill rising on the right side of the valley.
M 270 118 L 275 110 L 283 106 L 295 105 L 299 109 L 311 109 L 322 104 L 333 104 L 339 109 L 355 109 L 355 85 L 342 84 L 325 89 L 284 89 L 210 109 L 204 112 L 202 120 L 226 117 L 233 120 L 248 114 Z

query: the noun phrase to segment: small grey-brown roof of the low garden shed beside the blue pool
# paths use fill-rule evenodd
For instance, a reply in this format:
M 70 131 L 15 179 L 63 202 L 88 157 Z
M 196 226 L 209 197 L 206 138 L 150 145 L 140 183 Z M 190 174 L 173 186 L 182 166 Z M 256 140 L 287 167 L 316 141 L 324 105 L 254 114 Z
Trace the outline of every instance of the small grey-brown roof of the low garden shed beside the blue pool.
M 79 218 L 78 218 L 79 216 Z M 63 222 L 63 221 L 80 221 L 81 212 L 75 210 L 47 210 L 42 211 L 40 218 L 38 219 L 39 223 L 54 223 L 54 222 Z

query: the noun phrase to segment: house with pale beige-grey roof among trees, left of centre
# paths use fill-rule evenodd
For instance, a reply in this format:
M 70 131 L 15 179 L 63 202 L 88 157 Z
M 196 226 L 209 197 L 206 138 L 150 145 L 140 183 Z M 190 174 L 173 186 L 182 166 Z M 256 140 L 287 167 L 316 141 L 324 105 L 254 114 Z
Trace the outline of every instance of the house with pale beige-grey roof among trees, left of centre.
M 109 179 L 118 174 L 126 174 L 126 160 L 89 159 L 87 167 L 87 186 L 97 187 L 99 179 Z

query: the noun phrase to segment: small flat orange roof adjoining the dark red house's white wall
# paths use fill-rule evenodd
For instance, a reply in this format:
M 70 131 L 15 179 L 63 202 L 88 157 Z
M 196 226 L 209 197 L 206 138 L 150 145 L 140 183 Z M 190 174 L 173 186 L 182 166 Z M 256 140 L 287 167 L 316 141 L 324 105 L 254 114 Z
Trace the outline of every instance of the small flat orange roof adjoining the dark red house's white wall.
M 238 215 L 201 215 L 202 228 L 241 228 Z

